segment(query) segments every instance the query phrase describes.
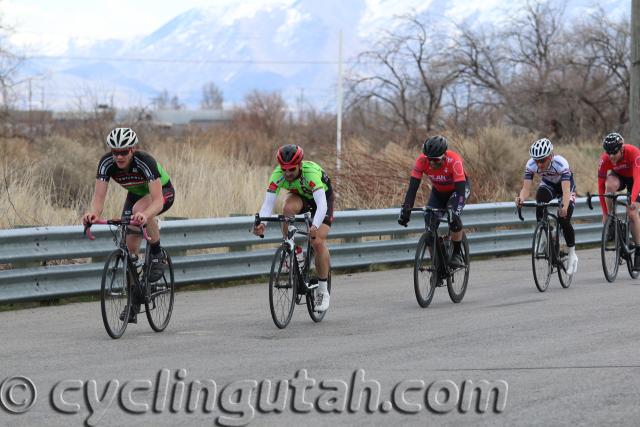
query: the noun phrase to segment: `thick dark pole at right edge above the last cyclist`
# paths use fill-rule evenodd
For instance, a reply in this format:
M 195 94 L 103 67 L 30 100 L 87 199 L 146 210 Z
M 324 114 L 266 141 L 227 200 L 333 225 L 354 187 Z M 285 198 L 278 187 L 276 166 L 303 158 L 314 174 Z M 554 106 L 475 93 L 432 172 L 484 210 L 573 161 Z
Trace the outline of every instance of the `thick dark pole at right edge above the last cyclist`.
M 631 0 L 629 142 L 640 146 L 640 0 Z

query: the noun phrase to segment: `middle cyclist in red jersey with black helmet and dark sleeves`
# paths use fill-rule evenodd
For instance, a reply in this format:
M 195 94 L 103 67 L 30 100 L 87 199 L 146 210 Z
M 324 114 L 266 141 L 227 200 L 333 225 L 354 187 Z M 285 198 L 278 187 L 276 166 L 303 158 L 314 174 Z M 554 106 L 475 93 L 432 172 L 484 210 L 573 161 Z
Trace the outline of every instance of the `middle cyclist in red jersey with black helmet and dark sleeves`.
M 432 187 L 427 206 L 439 209 L 450 206 L 453 211 L 450 225 L 453 254 L 450 264 L 454 268 L 464 267 L 460 215 L 465 200 L 469 197 L 470 183 L 464 173 L 462 158 L 458 153 L 447 149 L 447 139 L 444 136 L 436 135 L 427 138 L 422 146 L 422 154 L 416 159 L 409 188 L 398 216 L 400 225 L 406 226 L 409 223 L 411 208 L 413 208 L 422 175 L 427 176 Z M 425 221 L 427 227 L 433 224 L 437 228 L 439 225 L 438 222 L 433 222 L 431 212 L 427 212 Z

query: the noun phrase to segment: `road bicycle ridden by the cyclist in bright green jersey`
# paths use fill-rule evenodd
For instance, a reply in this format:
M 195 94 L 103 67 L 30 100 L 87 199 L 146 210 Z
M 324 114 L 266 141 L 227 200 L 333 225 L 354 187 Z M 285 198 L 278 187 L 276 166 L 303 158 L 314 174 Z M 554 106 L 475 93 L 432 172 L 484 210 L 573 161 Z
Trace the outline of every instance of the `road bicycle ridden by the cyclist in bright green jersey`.
M 314 322 L 324 319 L 326 311 L 316 311 L 315 290 L 318 287 L 318 279 L 311 274 L 314 268 L 314 253 L 309 238 L 311 227 L 311 214 L 305 213 L 295 217 L 284 215 L 261 217 L 255 216 L 254 226 L 261 222 L 278 222 L 287 224 L 287 234 L 283 236 L 282 244 L 276 250 L 271 263 L 269 278 L 269 307 L 273 323 L 280 328 L 286 328 L 293 316 L 296 304 L 307 305 L 309 316 Z M 304 223 L 304 229 L 296 227 L 296 223 Z M 306 251 L 304 262 L 300 264 L 295 251 L 295 238 L 306 237 Z M 263 235 L 260 237 L 264 237 Z M 283 271 L 287 270 L 288 271 Z M 331 269 L 327 277 L 327 290 L 331 294 Z M 304 301 L 302 298 L 304 297 Z

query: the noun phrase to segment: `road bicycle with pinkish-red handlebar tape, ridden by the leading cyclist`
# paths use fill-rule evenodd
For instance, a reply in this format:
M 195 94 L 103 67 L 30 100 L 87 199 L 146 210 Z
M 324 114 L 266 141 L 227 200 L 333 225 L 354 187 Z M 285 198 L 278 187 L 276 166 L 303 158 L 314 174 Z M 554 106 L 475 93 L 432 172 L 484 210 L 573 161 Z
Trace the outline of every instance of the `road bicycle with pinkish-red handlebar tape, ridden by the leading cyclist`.
M 150 283 L 151 245 L 147 243 L 142 263 L 129 252 L 126 243 L 129 234 L 142 234 L 148 242 L 146 225 L 132 221 L 129 217 L 119 220 L 100 219 L 85 225 L 84 232 L 90 240 L 94 240 L 91 234 L 91 226 L 94 224 L 117 227 L 116 231 L 112 230 L 117 249 L 109 254 L 104 263 L 100 286 L 102 322 L 107 333 L 113 339 L 120 338 L 127 329 L 131 310 L 141 304 L 144 304 L 144 313 L 151 329 L 162 332 L 169 324 L 173 312 L 175 280 L 171 257 L 163 248 L 166 268 L 159 280 Z M 142 226 L 142 231 L 131 230 L 129 225 Z

